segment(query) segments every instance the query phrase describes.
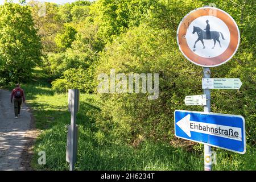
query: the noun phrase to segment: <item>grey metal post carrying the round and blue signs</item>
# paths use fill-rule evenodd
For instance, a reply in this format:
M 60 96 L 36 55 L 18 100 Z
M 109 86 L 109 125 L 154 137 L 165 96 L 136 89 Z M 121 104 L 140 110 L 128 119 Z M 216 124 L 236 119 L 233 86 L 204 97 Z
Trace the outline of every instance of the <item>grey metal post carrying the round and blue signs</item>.
M 204 78 L 210 78 L 210 68 L 204 67 Z M 204 112 L 210 113 L 210 89 L 203 89 L 207 95 L 207 105 L 204 106 Z M 204 171 L 212 171 L 212 151 L 207 144 L 204 145 Z

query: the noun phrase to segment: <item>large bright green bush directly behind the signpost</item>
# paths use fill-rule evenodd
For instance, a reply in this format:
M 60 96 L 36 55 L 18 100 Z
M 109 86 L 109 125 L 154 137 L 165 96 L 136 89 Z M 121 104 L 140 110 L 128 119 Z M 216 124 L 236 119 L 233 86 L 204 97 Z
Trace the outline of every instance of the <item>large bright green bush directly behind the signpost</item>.
M 105 48 L 97 73 L 110 73 L 110 69 L 126 75 L 159 73 L 157 100 L 148 100 L 147 94 L 101 95 L 104 105 L 96 125 L 108 140 L 115 143 L 136 143 L 147 138 L 169 141 L 174 137 L 175 109 L 203 111 L 201 106 L 184 104 L 185 96 L 203 93 L 203 68 L 185 59 L 175 36 L 183 18 L 176 12 L 192 9 L 188 3 L 183 6 L 162 3 L 151 11 L 146 23 L 129 30 Z M 239 10 L 232 13 L 234 11 Z M 243 30 L 244 35 L 249 36 L 246 31 L 249 30 Z M 232 60 L 211 68 L 212 77 L 238 77 L 243 82 L 240 90 L 212 90 L 212 111 L 243 115 L 247 142 L 255 144 L 255 56 L 253 48 L 243 47 L 244 40 L 250 38 L 241 40 L 241 47 Z

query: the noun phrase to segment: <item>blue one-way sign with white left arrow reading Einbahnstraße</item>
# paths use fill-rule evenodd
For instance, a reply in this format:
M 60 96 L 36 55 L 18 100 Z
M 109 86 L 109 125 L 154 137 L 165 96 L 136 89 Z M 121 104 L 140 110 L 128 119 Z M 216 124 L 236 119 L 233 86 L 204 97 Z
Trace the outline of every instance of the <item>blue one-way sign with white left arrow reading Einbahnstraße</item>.
M 175 110 L 176 137 L 245 154 L 245 119 L 241 115 Z

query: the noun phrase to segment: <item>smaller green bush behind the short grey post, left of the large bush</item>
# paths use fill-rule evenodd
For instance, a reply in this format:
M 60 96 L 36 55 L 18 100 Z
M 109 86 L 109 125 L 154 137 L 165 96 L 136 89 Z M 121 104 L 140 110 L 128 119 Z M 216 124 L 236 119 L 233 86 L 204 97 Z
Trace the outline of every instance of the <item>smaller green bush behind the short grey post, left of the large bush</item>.
M 80 89 L 81 92 L 94 92 L 94 70 L 98 56 L 89 49 L 76 51 L 67 49 L 66 52 L 51 53 L 44 60 L 49 75 L 55 81 L 52 89 L 56 92 L 64 92 L 71 88 Z

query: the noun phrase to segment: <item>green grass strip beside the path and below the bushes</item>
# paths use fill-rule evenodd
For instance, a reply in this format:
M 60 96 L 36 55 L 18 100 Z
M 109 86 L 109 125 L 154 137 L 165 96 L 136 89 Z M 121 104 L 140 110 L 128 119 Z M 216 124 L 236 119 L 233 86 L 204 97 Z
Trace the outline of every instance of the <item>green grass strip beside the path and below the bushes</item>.
M 42 74 L 37 70 L 37 75 Z M 41 79 L 40 77 L 44 77 Z M 42 130 L 34 147 L 32 166 L 38 170 L 68 170 L 65 162 L 67 129 L 70 113 L 67 94 L 54 93 L 46 75 L 23 85 L 27 103 L 33 109 L 36 127 Z M 90 112 L 100 111 L 101 100 L 96 95 L 80 95 L 79 150 L 77 170 L 203 170 L 203 152 L 187 152 L 167 143 L 144 140 L 137 148 L 127 144 L 98 142 L 97 129 Z M 99 137 L 99 136 L 98 136 Z M 101 136 L 100 137 L 104 137 Z M 39 151 L 46 152 L 46 165 L 39 165 Z M 247 146 L 244 155 L 216 150 L 217 165 L 213 170 L 255 170 L 255 148 Z

